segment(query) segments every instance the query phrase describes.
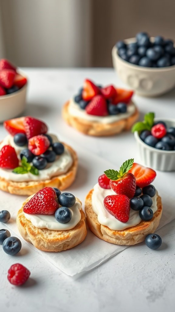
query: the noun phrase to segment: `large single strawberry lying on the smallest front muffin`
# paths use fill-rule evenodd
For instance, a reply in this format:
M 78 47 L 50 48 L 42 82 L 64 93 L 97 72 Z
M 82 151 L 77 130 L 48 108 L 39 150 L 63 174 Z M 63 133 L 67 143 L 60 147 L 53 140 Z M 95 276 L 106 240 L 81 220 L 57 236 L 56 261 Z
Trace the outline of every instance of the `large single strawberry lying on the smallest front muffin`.
M 53 214 L 59 207 L 54 188 L 45 187 L 37 192 L 23 207 L 28 214 Z

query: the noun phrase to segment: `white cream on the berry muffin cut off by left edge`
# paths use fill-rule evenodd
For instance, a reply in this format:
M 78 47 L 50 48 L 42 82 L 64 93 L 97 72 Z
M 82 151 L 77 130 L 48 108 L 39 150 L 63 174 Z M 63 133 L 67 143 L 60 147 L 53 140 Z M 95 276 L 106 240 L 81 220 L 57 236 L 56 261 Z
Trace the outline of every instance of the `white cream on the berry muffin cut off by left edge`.
M 53 139 L 53 142 L 59 142 L 58 138 L 50 134 Z M 12 135 L 7 135 L 2 143 L 0 144 L 0 150 L 4 145 L 11 145 L 14 147 L 17 157 L 20 159 L 20 152 L 27 148 L 27 146 L 17 146 L 14 143 Z M 73 163 L 73 159 L 69 151 L 65 148 L 64 153 L 60 156 L 57 156 L 53 163 L 48 163 L 45 169 L 39 170 L 39 175 L 34 175 L 30 172 L 24 174 L 13 173 L 12 170 L 0 168 L 0 177 L 6 180 L 15 181 L 15 182 L 27 182 L 27 181 L 42 181 L 53 178 L 57 175 L 66 173 Z

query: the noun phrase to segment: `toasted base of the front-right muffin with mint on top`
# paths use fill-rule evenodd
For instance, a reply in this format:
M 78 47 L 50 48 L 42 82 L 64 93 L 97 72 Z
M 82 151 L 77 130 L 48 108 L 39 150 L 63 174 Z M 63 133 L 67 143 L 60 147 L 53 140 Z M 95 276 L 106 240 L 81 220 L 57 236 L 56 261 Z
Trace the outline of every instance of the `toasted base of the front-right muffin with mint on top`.
M 85 200 L 87 224 L 91 231 L 104 241 L 117 245 L 135 245 L 144 241 L 148 234 L 154 233 L 157 229 L 162 216 L 160 196 L 157 197 L 157 211 L 150 221 L 141 221 L 135 227 L 129 227 L 122 231 L 114 231 L 98 222 L 97 215 L 92 210 L 92 192 L 93 190 L 87 194 Z

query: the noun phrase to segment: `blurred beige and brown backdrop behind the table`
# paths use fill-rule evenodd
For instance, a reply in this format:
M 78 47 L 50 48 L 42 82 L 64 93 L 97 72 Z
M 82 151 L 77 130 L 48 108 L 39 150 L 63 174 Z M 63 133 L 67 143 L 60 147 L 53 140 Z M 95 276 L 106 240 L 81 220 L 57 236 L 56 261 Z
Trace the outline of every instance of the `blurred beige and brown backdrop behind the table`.
M 19 66 L 112 66 L 139 31 L 175 39 L 175 0 L 0 0 L 0 57 Z

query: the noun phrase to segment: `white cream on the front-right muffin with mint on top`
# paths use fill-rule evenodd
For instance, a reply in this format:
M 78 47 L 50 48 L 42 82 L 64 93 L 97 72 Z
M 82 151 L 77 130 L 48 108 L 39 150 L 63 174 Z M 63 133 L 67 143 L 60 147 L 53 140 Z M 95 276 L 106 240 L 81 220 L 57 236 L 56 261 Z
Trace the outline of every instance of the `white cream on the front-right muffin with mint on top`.
M 130 217 L 127 223 L 123 223 L 112 216 L 104 207 L 104 198 L 108 195 L 116 195 L 112 189 L 101 188 L 97 183 L 93 188 L 92 193 L 92 210 L 97 215 L 98 222 L 111 230 L 122 231 L 128 227 L 134 227 L 142 220 L 139 216 L 139 211 L 130 209 Z M 153 204 L 150 207 L 153 213 L 157 210 L 157 191 L 154 197 L 152 197 Z

